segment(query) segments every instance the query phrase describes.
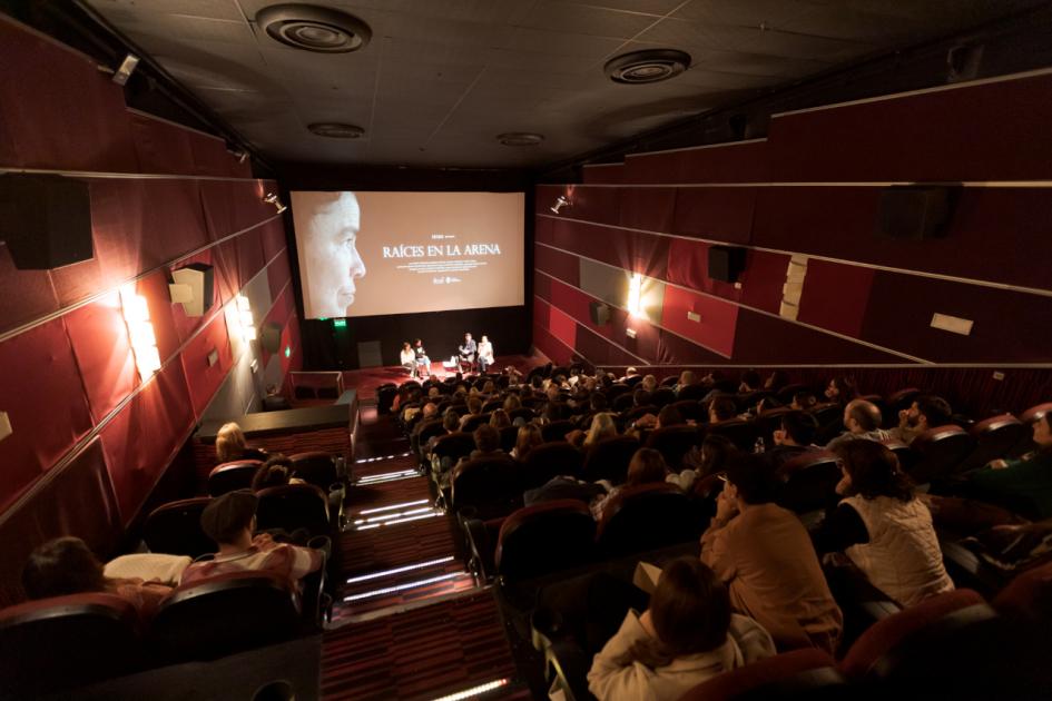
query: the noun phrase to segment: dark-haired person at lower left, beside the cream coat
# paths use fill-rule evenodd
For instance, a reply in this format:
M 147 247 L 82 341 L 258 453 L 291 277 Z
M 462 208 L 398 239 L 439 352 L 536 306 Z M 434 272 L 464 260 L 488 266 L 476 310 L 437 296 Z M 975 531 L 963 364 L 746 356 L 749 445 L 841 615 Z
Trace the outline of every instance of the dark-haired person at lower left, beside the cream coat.
M 169 583 L 178 580 L 178 571 L 189 564 L 189 557 L 146 554 L 137 571 L 167 573 Z M 144 560 L 145 559 L 145 560 Z M 151 576 L 150 579 L 161 579 Z M 130 601 L 139 616 L 149 619 L 171 586 L 159 581 L 144 581 L 141 576 L 106 576 L 102 563 L 79 537 L 66 536 L 45 543 L 29 555 L 22 570 L 22 588 L 30 599 L 48 599 L 67 594 L 105 592 Z M 13 651 L 7 651 L 13 654 Z

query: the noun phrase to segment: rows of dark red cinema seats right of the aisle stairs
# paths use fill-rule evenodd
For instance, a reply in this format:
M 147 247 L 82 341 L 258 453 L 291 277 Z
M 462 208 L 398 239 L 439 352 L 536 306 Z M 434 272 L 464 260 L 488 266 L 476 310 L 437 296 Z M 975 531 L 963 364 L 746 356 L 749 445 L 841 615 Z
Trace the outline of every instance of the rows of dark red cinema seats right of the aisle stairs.
M 698 535 L 715 512 L 714 502 L 722 482 L 718 474 L 710 474 L 701 475 L 688 492 L 675 484 L 625 488 L 615 500 L 613 509 L 603 510 L 598 522 L 580 500 L 523 506 L 523 491 L 556 475 L 621 484 L 632 454 L 642 446 L 658 450 L 671 468 L 679 470 L 689 464 L 684 462 L 685 457 L 708 435 L 725 436 L 741 451 L 765 451 L 773 446 L 781 417 L 792 411 L 784 405 L 800 393 L 822 396 L 823 391 L 787 385 L 780 391 L 738 392 L 738 383 L 724 382 L 688 385 L 677 392 L 674 385 L 678 378 L 668 377 L 657 383 L 643 397 L 647 402 L 640 404 L 633 388 L 642 377 L 600 381 L 593 392 L 603 394 L 621 431 L 668 405 L 690 421 L 643 432 L 639 437 L 604 438 L 582 451 L 563 438 L 570 431 L 588 427 L 590 403 L 588 393 L 580 392 L 584 377 L 582 368 L 547 367 L 527 378 L 458 377 L 384 388 L 382 402 L 386 403 L 386 411 L 395 413 L 395 421 L 407 434 L 416 430 L 417 446 L 437 436 L 431 461 L 422 455 L 422 470 L 434 475 L 434 465 L 456 465 L 449 470 L 449 483 L 436 480 L 436 486 L 445 490 L 449 506 L 458 514 L 473 571 L 493 583 L 505 603 L 521 606 L 528 616 L 538 592 L 548 583 L 621 566 L 619 562 L 660 561 L 669 553 L 697 554 Z M 559 386 L 557 396 L 547 394 L 553 383 Z M 442 412 L 450 407 L 459 413 L 468 409 L 458 388 L 465 389 L 469 396 L 481 394 L 483 411 L 465 422 L 461 431 L 448 433 L 436 423 Z M 708 421 L 704 397 L 714 389 L 734 398 L 738 416 Z M 509 394 L 519 396 L 522 404 L 509 414 L 539 424 L 544 443 L 524 460 L 508 456 L 469 460 L 474 448 L 470 431 L 489 423 L 492 412 L 503 406 Z M 894 426 L 898 413 L 910 408 L 921 394 L 921 388 L 908 387 L 888 396 L 854 396 L 875 404 L 884 416 L 884 425 Z M 844 430 L 844 401 L 851 397 L 837 398 L 840 401 L 818 403 L 806 409 L 815 418 L 816 443 L 824 444 Z M 760 401 L 763 406 L 757 407 Z M 421 426 L 420 409 L 429 402 L 435 404 L 436 418 L 431 419 L 430 426 Z M 885 444 L 931 498 L 952 500 L 955 480 L 962 474 L 981 468 L 991 460 L 1032 451 L 1030 426 L 1050 411 L 1052 404 L 1026 408 L 1017 416 L 954 414 L 950 424 L 930 428 L 910 445 L 895 441 Z M 517 426 L 501 430 L 504 451 L 514 445 L 517 432 Z M 834 490 L 842 477 L 836 455 L 813 447 L 783 463 L 776 473 L 781 483 L 779 505 L 797 513 L 807 525 L 820 520 L 825 510 L 836 504 Z M 943 529 L 956 524 L 946 523 L 941 519 L 946 514 L 935 511 L 935 525 L 945 539 L 947 570 L 956 580 L 956 591 L 903 610 L 864 577 L 858 581 L 857 572 L 836 573 L 854 577 L 848 585 L 834 588 L 846 619 L 837 659 L 817 650 L 785 651 L 701 684 L 685 699 L 797 698 L 804 692 L 808 697 L 828 692 L 836 698 L 842 698 L 838 695 L 842 692 L 843 698 L 887 698 L 894 692 L 913 698 L 922 689 L 936 695 L 960 690 L 964 692 L 962 698 L 1049 698 L 1052 684 L 1045 663 L 1052 659 L 1048 632 L 1052 630 L 1048 625 L 1052 623 L 1052 552 L 1029 562 L 1017 573 L 1002 572 L 993 581 L 976 579 L 974 554 L 964 550 L 967 556 L 961 556 L 961 562 L 948 561 L 962 550 L 954 540 L 961 533 L 955 527 Z M 1000 522 L 1019 520 L 1010 516 Z M 832 571 L 827 574 L 834 575 Z M 973 582 L 982 584 L 977 586 L 980 592 L 966 589 Z M 548 679 L 558 683 L 568 698 L 590 698 L 582 685 L 590 655 L 582 658 L 572 644 L 549 640 L 550 631 L 532 633 L 534 640 L 544 641 L 539 646 Z

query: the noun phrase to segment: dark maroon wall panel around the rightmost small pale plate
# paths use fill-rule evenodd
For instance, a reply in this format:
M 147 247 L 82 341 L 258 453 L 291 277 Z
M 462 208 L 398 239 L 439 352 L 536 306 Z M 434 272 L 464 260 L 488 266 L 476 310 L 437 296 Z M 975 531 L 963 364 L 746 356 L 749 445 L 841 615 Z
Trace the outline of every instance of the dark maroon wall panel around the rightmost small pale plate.
M 934 313 L 973 320 L 971 335 L 932 328 Z M 1052 297 L 877 271 L 863 335 L 942 363 L 1049 363 L 1050 328 Z

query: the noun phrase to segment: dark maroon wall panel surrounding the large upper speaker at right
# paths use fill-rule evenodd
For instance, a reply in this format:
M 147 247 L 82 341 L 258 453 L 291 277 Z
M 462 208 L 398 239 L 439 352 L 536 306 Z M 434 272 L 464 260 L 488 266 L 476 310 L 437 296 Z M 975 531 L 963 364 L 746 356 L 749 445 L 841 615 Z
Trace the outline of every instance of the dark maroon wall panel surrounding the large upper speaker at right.
M 875 187 L 764 188 L 753 243 L 907 270 L 1052 286 L 1032 259 L 1052 229 L 1052 190 L 964 188 L 946 236 L 927 240 L 876 236 L 881 192 Z

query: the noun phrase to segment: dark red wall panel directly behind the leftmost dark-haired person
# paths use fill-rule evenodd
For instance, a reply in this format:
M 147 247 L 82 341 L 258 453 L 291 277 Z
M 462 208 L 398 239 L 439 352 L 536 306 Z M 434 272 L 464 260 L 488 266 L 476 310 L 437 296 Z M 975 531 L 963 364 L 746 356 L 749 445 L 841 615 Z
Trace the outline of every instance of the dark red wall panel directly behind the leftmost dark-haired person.
M 96 438 L 27 503 L 0 515 L 4 563 L 0 566 L 0 606 L 24 600 L 22 564 L 39 544 L 76 533 L 95 552 L 110 553 L 119 530 L 117 498 L 101 442 Z

